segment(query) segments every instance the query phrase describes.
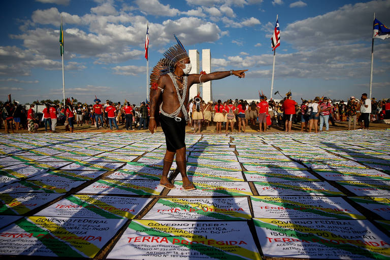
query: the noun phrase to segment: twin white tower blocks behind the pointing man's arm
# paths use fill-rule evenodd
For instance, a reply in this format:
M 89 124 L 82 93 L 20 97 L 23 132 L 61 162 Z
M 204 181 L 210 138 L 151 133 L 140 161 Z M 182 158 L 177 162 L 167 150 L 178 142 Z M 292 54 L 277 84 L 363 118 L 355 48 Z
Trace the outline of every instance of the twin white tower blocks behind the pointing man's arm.
M 188 50 L 189 59 L 191 60 L 191 71 L 190 74 L 199 74 L 200 66 L 199 66 L 199 52 L 198 50 Z M 202 71 L 207 74 L 211 73 L 211 54 L 210 49 L 202 50 Z M 202 79 L 201 79 L 202 80 Z M 209 101 L 213 101 L 213 91 L 211 88 L 211 81 L 193 85 L 189 89 L 189 99 L 193 99 L 194 96 L 198 94 L 200 91 L 199 88 L 202 86 L 202 99 L 207 103 Z

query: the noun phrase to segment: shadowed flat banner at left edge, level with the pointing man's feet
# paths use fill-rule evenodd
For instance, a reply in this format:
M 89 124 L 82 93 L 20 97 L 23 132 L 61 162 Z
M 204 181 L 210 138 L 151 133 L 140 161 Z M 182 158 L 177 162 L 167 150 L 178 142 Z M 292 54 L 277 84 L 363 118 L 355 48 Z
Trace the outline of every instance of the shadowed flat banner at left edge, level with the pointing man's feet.
M 84 181 L 68 180 L 21 180 L 0 188 L 0 193 L 42 192 L 65 193 L 80 186 Z

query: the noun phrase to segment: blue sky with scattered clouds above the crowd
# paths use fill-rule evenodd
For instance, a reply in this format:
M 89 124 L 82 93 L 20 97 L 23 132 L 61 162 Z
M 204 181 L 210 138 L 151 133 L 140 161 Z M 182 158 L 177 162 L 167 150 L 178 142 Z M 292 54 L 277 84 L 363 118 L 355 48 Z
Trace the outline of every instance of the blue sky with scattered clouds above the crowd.
M 26 0 L 0 16 L 0 100 L 62 99 L 59 25 L 64 27 L 66 96 L 92 103 L 145 100 L 149 68 L 175 44 L 210 49 L 212 71 L 248 69 L 213 82 L 213 99 L 269 96 L 271 35 L 279 15 L 274 91 L 294 99 L 360 97 L 369 91 L 373 13 L 390 26 L 390 0 Z M 375 39 L 373 92 L 390 97 L 390 39 Z M 275 97 L 277 98 L 277 96 Z

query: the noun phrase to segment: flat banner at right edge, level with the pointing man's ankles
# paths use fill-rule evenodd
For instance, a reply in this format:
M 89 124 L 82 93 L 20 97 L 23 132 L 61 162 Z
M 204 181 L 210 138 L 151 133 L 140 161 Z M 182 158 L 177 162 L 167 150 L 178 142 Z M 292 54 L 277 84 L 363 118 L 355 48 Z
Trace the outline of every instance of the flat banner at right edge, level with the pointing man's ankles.
M 390 176 L 373 169 L 315 169 L 314 172 L 331 181 L 390 180 Z

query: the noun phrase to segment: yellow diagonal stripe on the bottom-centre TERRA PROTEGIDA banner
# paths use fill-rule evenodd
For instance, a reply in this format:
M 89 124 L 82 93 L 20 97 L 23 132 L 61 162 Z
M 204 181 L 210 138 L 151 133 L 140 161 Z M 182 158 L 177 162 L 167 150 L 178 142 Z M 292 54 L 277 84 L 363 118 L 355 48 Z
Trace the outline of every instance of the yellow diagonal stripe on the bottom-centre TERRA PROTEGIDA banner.
M 136 221 L 138 222 L 140 225 L 144 226 L 145 229 L 150 229 L 151 226 L 157 226 L 159 225 L 159 223 L 157 221 L 154 221 L 154 220 L 133 220 L 133 221 Z M 148 225 L 147 223 L 153 223 L 153 225 Z M 215 239 L 208 239 L 204 236 L 201 236 L 199 234 L 197 234 L 195 237 L 183 237 L 183 234 L 186 234 L 186 231 L 185 230 L 181 230 L 181 229 L 176 229 L 174 228 L 173 226 L 167 226 L 167 230 L 169 229 L 169 232 L 168 231 L 163 231 L 164 233 L 169 233 L 173 236 L 177 236 L 177 237 L 181 237 L 182 240 L 186 240 L 187 242 L 198 242 L 200 244 L 202 244 L 202 242 L 204 243 L 204 241 L 208 241 L 208 242 L 211 242 L 209 244 L 212 244 L 211 247 L 214 247 L 214 248 L 218 248 L 220 249 L 221 251 L 224 251 L 226 252 L 226 245 L 218 245 L 218 241 L 215 240 Z M 159 230 L 160 231 L 160 230 Z M 161 234 L 163 235 L 163 234 Z M 251 257 L 255 257 L 253 259 L 257 259 L 257 260 L 261 260 L 261 256 L 259 254 L 257 254 L 256 252 L 253 252 L 253 251 L 250 251 L 246 248 L 242 248 L 242 247 L 238 247 L 238 246 L 235 246 L 234 247 L 235 249 L 235 252 L 227 252 L 227 253 L 231 253 L 231 254 L 237 254 L 237 255 L 240 255 L 240 256 L 244 256 L 244 257 L 248 257 L 248 258 L 251 258 Z

